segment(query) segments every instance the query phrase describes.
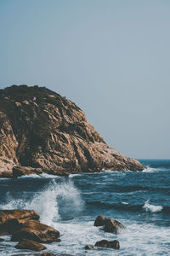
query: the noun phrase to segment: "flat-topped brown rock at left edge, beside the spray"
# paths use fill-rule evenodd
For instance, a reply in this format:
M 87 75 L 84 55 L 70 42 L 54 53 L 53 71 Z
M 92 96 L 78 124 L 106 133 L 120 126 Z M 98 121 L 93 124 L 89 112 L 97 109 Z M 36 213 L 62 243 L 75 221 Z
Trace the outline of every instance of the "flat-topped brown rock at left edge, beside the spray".
M 1 210 L 0 235 L 10 235 L 19 230 L 21 223 L 28 220 L 38 220 L 39 215 L 33 210 Z

